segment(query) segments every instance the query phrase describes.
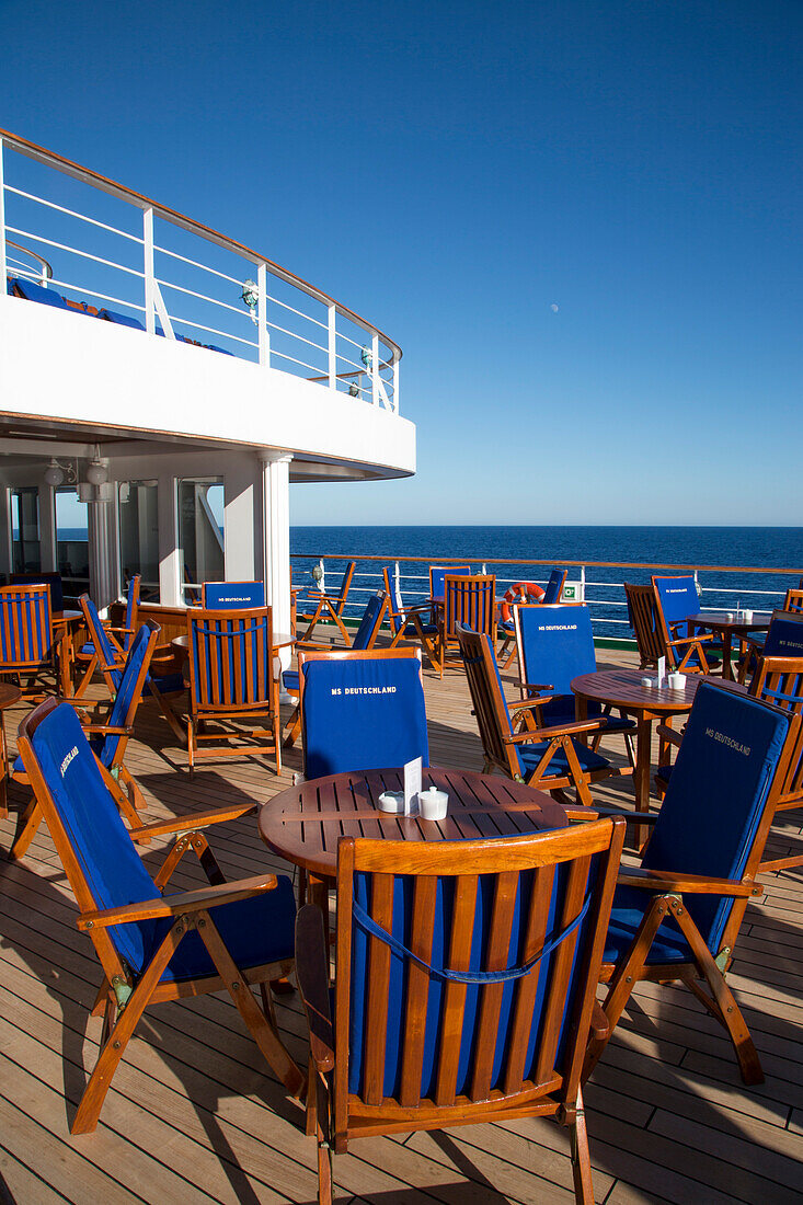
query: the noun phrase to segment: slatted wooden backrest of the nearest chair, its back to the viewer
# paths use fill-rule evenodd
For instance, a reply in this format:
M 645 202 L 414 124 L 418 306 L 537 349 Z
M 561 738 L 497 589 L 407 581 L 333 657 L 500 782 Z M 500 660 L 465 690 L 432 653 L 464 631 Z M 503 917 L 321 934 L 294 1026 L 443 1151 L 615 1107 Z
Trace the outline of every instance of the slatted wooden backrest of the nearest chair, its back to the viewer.
M 418 1121 L 430 1113 L 436 1119 L 442 1112 L 447 1124 L 450 1116 L 469 1119 L 473 1111 L 480 1119 L 491 1107 L 515 1103 L 517 1097 L 552 1094 L 556 1107 L 562 1099 L 573 1099 L 623 831 L 622 821 L 597 821 L 504 840 L 428 844 L 341 839 L 335 983 L 338 1138 L 345 1136 L 354 1117 L 393 1122 L 412 1111 Z M 403 935 L 403 942 L 427 968 L 404 957 L 399 970 L 399 954 L 373 933 L 364 939 L 364 947 L 362 937 L 359 948 L 354 946 L 357 882 L 371 919 L 398 940 Z M 404 924 L 398 912 L 403 899 L 409 918 Z M 515 980 L 467 984 L 444 981 L 428 969 L 438 964 L 463 972 L 506 972 L 514 965 L 527 966 L 550 939 L 570 929 L 584 907 L 576 928 Z M 403 1001 L 392 993 L 392 959 L 394 974 L 400 974 L 404 983 Z M 364 981 L 359 977 L 363 969 Z M 359 1052 L 350 1047 L 353 992 L 364 1004 L 362 1034 L 370 1034 Z M 541 1003 L 534 1021 L 537 999 Z M 386 1056 L 397 1044 L 398 1060 L 388 1072 Z M 362 1059 L 357 1092 L 348 1088 L 352 1057 Z M 394 1092 L 388 1092 L 388 1075 L 397 1084 Z

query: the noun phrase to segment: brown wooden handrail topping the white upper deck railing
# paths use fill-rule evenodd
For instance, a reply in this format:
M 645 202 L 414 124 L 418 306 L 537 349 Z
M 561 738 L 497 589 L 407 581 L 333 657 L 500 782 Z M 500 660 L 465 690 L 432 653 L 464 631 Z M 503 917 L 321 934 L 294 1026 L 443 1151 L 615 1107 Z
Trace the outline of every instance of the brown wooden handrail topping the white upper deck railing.
M 55 167 L 58 171 L 63 171 L 65 175 L 71 176 L 74 180 L 78 180 L 84 184 L 90 184 L 111 196 L 125 200 L 130 205 L 135 205 L 137 208 L 143 211 L 152 210 L 156 216 L 163 218 L 165 222 L 170 222 L 172 225 L 176 225 L 182 230 L 195 234 L 199 237 L 205 239 L 207 242 L 213 242 L 218 247 L 223 247 L 225 251 L 231 251 L 235 254 L 241 255 L 244 259 L 250 259 L 257 266 L 259 264 L 264 264 L 271 276 L 276 276 L 287 284 L 292 284 L 294 288 L 300 289 L 301 293 L 306 293 L 307 296 L 313 298 L 322 305 L 334 306 L 338 313 L 348 318 L 356 327 L 379 336 L 386 347 L 391 348 L 394 362 L 398 363 L 398 360 L 402 359 L 402 348 L 399 345 L 395 343 L 388 335 L 383 334 L 379 327 L 375 327 L 353 310 L 350 310 L 348 306 L 342 305 L 342 302 L 335 300 L 335 298 L 329 296 L 329 294 L 324 293 L 323 289 L 317 288 L 315 284 L 310 284 L 309 281 L 297 276 L 295 272 L 291 272 L 289 269 L 282 268 L 281 264 L 276 264 L 266 255 L 262 255 L 259 252 L 253 251 L 253 248 L 246 247 L 245 243 L 239 242 L 236 239 L 230 239 L 228 235 L 221 234 L 218 230 L 213 230 L 203 222 L 197 222 L 194 218 L 187 217 L 177 210 L 162 205 L 159 201 L 153 201 L 142 193 L 137 193 L 133 188 L 127 188 L 124 184 L 119 184 L 117 181 L 110 180 L 107 176 L 102 176 L 100 172 L 93 171 L 92 167 L 83 167 L 81 164 L 74 163 L 71 159 L 57 154 L 54 151 L 48 151 L 46 147 L 40 147 L 37 143 L 30 142 L 28 139 L 23 139 L 17 134 L 11 134 L 8 130 L 0 129 L 0 140 L 11 149 L 17 151 L 28 159 L 33 159 L 36 163 L 43 163 L 49 167 Z

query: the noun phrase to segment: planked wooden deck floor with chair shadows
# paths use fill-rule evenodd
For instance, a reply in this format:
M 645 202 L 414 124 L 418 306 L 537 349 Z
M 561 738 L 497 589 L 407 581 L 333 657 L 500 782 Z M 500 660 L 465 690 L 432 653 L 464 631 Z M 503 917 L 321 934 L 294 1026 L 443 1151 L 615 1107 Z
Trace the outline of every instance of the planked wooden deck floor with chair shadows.
M 600 654 L 600 668 L 611 656 Z M 432 760 L 480 769 L 462 675 L 424 677 Z M 12 746 L 20 715 L 6 716 Z M 263 800 L 300 766 L 292 751 L 281 778 L 256 760 L 191 778 L 186 753 L 153 705 L 140 717 L 142 739 L 127 762 L 154 819 Z M 619 798 L 628 790 L 621 780 Z M 18 798 L 14 788 L 12 805 Z M 802 823 L 789 813 L 773 847 L 786 848 Z M 13 818 L 0 822 L 4 850 L 12 830 Z M 229 877 L 268 864 L 287 869 L 271 863 L 251 818 L 219 825 L 211 840 Z M 158 851 L 147 857 L 158 860 Z M 45 830 L 20 864 L 0 854 L 0 1201 L 313 1201 L 315 1145 L 222 997 L 146 1013 L 98 1131 L 70 1138 L 100 1030 L 87 1019 L 99 965 L 75 928 Z M 176 889 L 200 881 L 189 862 L 174 880 Z M 758 1088 L 742 1084 L 723 1031 L 687 992 L 637 989 L 587 1089 L 598 1201 L 803 1200 L 802 952 L 803 877 L 768 876 L 764 895 L 749 906 L 731 976 L 767 1075 Z M 282 998 L 279 1015 L 303 1059 L 298 997 Z M 354 1205 L 573 1200 L 567 1135 L 547 1121 L 362 1140 L 335 1159 L 335 1182 L 338 1199 Z

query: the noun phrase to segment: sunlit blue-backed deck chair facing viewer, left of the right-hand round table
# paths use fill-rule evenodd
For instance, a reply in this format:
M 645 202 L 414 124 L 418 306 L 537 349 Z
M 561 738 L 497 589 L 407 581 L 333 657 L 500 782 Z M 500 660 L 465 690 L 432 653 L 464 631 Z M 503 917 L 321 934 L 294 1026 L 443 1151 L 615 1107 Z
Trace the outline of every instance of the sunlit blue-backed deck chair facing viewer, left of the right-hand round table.
M 535 709 L 539 727 L 572 724 L 576 719 L 572 680 L 597 671 L 597 652 L 591 612 L 585 602 L 524 604 L 514 609 L 516 652 L 521 672 L 522 699 L 549 695 Z M 602 704 L 588 704 L 588 719 L 605 719 L 605 735 L 623 736 L 631 766 L 635 766 L 632 734 L 635 721 L 622 712 L 614 715 Z M 598 733 L 591 747 L 599 746 Z

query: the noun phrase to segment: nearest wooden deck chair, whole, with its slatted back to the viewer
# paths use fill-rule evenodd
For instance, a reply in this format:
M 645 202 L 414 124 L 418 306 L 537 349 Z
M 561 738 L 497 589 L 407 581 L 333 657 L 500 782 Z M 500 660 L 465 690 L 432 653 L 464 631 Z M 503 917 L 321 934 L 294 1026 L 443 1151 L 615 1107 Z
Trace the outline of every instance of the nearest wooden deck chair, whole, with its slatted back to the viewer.
M 623 828 L 340 839 L 334 1007 L 321 910 L 295 928 L 320 1203 L 358 1138 L 551 1116 L 592 1205 L 581 1074 Z

